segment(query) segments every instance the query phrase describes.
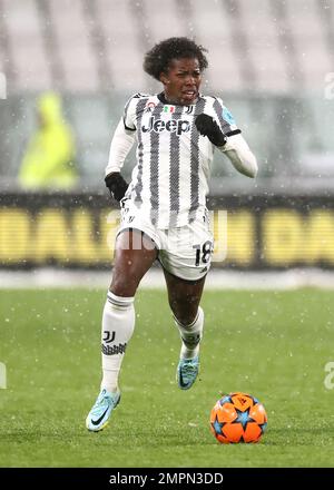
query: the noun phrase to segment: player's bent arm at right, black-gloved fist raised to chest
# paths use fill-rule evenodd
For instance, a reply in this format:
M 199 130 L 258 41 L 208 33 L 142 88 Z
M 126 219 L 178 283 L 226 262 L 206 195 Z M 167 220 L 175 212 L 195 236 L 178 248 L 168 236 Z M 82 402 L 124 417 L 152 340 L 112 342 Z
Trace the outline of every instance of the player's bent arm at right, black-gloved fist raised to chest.
M 207 136 L 213 145 L 226 154 L 237 171 L 252 178 L 256 176 L 256 158 L 243 136 L 239 134 L 239 129 L 225 135 L 215 119 L 207 114 L 200 114 L 197 116 L 195 125 L 200 135 Z

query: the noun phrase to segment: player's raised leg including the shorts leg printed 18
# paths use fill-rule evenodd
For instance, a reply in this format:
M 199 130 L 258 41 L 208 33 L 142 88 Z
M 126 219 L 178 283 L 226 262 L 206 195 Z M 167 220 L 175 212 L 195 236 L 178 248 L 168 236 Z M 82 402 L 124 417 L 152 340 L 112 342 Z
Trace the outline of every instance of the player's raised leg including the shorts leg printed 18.
M 177 381 L 183 390 L 188 390 L 198 374 L 204 326 L 204 312 L 199 302 L 210 267 L 212 252 L 213 235 L 205 214 L 191 224 L 168 229 L 159 249 L 169 305 L 181 336 Z

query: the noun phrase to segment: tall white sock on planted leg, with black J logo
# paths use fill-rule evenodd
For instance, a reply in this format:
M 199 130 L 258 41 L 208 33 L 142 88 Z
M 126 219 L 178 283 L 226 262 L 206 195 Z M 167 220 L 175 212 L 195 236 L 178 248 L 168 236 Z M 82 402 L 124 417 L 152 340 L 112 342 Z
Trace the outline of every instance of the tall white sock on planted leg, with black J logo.
M 121 361 L 135 329 L 134 297 L 121 297 L 108 292 L 102 316 L 101 390 L 119 391 L 118 375 Z

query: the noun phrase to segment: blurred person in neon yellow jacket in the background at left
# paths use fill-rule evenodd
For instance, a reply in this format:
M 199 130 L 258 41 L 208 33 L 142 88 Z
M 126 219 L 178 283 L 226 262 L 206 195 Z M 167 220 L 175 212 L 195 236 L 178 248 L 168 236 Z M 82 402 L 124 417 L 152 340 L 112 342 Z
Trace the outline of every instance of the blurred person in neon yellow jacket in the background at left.
M 26 189 L 70 189 L 78 179 L 75 140 L 61 112 L 61 99 L 46 92 L 37 102 L 38 129 L 28 144 L 19 182 Z

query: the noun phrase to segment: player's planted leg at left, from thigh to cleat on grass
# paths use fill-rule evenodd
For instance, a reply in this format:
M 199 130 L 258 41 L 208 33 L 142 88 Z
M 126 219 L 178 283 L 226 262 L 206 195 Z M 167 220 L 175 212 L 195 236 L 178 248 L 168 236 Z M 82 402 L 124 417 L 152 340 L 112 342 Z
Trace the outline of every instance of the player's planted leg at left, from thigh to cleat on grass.
M 86 420 L 91 431 L 107 425 L 119 402 L 119 370 L 135 327 L 134 296 L 156 257 L 154 243 L 141 232 L 126 229 L 118 235 L 112 281 L 102 314 L 101 390 Z

